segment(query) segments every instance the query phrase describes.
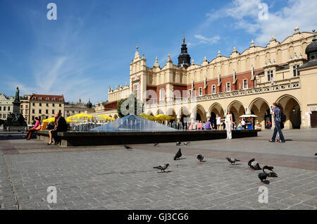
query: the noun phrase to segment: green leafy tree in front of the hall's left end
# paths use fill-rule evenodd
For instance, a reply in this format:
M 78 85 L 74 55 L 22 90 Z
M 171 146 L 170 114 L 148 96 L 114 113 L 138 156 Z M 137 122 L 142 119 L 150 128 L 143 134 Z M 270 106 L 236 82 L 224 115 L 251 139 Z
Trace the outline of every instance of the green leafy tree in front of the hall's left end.
M 133 110 L 133 108 L 131 108 L 131 110 L 132 110 L 131 111 L 130 106 L 133 106 L 134 110 Z M 130 94 L 129 98 L 120 99 L 120 101 L 118 101 L 117 112 L 118 112 L 119 118 L 123 118 L 124 116 L 128 116 L 131 113 L 139 115 L 139 114 L 142 114 L 143 111 L 144 111 L 144 104 L 142 104 L 142 102 L 139 101 L 135 97 L 134 94 Z

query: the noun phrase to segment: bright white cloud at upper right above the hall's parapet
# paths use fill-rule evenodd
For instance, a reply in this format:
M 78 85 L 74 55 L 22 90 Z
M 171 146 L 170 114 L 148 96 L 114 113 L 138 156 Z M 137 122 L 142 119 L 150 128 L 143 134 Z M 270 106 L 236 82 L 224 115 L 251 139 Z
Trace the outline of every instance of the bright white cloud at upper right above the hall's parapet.
M 292 35 L 294 27 L 298 26 L 300 31 L 311 32 L 317 27 L 316 8 L 317 1 L 311 0 L 289 0 L 287 6 L 273 12 L 268 6 L 268 20 L 260 20 L 259 8 L 261 0 L 234 0 L 218 11 L 206 14 L 206 20 L 201 29 L 206 29 L 211 23 L 220 18 L 231 17 L 235 19 L 235 28 L 242 29 L 249 34 L 256 35 L 256 45 L 265 46 L 275 35 L 278 41 Z

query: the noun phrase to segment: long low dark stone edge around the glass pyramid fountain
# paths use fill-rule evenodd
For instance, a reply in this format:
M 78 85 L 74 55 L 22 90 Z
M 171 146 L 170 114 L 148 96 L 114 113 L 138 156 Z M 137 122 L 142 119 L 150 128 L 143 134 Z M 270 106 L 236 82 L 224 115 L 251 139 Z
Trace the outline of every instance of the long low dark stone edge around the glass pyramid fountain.
M 261 130 L 232 130 L 232 138 L 256 137 Z M 168 132 L 59 132 L 62 147 L 102 146 L 111 144 L 149 144 L 225 139 L 226 130 Z M 49 131 L 37 132 L 37 139 L 49 142 Z

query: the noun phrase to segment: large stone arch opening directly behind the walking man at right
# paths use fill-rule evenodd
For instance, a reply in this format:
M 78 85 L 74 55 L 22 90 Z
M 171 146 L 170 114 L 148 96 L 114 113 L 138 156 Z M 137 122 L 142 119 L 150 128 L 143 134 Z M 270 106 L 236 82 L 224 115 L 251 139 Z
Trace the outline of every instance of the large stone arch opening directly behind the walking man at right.
M 282 108 L 286 116 L 285 129 L 300 128 L 302 111 L 299 101 L 295 97 L 285 94 L 279 97 L 276 103 Z

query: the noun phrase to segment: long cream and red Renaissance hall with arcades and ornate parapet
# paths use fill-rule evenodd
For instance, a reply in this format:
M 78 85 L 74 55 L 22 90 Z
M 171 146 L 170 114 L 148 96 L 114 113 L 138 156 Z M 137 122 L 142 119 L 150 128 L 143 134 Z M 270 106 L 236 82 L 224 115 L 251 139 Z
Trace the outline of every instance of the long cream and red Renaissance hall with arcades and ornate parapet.
M 190 50 L 190 49 L 189 49 Z M 317 41 L 313 32 L 294 33 L 278 42 L 272 35 L 266 46 L 251 41 L 242 53 L 202 63 L 191 60 L 182 40 L 178 63 L 168 55 L 166 64 L 147 66 L 135 52 L 130 63 L 130 85 L 108 89 L 108 102 L 99 105 L 116 117 L 116 103 L 133 93 L 144 102 L 147 114 L 168 114 L 175 121 L 223 116 L 228 109 L 235 119 L 255 114 L 261 127 L 272 119 L 277 102 L 286 115 L 285 129 L 317 127 Z M 146 92 L 146 94 L 144 94 Z M 191 102 L 194 101 L 194 104 Z

